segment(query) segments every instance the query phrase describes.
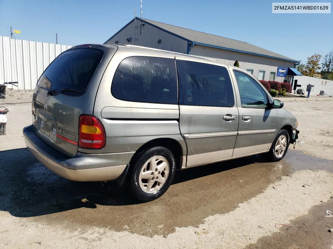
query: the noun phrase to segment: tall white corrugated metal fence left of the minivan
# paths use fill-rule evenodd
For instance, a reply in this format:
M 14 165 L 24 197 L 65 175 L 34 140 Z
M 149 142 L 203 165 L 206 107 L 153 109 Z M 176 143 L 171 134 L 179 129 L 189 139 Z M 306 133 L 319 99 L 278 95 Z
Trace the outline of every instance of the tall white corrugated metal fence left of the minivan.
M 0 79 L 18 81 L 18 89 L 34 89 L 46 67 L 70 47 L 0 36 Z M 12 85 L 7 87 L 17 89 Z

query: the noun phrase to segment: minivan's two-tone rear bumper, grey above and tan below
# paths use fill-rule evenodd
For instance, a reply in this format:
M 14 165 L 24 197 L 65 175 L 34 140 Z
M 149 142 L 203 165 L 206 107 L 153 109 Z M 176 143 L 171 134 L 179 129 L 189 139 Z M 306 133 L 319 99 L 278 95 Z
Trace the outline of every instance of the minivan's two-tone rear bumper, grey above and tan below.
M 31 153 L 56 174 L 73 181 L 112 181 L 122 175 L 133 152 L 86 154 L 68 157 L 53 149 L 35 133 L 33 125 L 23 129 L 25 143 Z

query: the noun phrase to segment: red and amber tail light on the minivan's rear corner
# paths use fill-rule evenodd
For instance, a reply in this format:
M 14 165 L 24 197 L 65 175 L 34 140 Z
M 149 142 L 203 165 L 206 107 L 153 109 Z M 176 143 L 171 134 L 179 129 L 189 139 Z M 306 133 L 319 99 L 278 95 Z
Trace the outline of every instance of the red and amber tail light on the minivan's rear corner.
M 81 115 L 79 124 L 79 147 L 102 149 L 106 143 L 105 129 L 98 118 Z

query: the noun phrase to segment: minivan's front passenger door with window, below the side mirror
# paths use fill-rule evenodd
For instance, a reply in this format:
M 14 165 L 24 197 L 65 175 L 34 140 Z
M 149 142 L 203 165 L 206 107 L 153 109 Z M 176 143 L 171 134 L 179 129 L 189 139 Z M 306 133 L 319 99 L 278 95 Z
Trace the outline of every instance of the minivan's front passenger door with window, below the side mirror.
M 240 103 L 238 135 L 232 157 L 269 150 L 277 127 L 275 109 L 267 109 L 267 94 L 250 75 L 233 70 Z

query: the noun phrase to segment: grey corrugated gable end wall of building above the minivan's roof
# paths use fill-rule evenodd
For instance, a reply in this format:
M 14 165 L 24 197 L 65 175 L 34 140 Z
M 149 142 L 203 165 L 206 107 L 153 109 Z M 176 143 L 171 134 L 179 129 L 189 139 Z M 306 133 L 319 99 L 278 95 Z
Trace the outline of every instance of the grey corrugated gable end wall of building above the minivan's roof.
M 126 40 L 127 38 L 132 38 L 132 41 L 128 42 Z M 159 39 L 161 39 L 161 43 L 157 43 Z M 187 52 L 187 41 L 155 28 L 147 23 L 145 23 L 145 26 L 142 27 L 140 35 L 139 20 L 136 20 L 136 23 L 134 21 L 130 23 L 125 29 L 119 32 L 119 34 L 109 40 L 107 44 L 114 44 L 115 41 L 118 41 L 119 44 L 132 44 L 179 53 Z

